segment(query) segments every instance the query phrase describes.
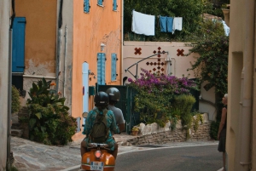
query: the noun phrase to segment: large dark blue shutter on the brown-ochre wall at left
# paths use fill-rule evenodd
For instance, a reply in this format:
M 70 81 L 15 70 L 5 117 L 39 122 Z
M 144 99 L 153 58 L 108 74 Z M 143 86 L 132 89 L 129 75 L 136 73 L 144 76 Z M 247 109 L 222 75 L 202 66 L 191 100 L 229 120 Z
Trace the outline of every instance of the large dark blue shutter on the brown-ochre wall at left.
M 12 43 L 12 71 L 24 72 L 25 69 L 25 17 L 15 17 Z

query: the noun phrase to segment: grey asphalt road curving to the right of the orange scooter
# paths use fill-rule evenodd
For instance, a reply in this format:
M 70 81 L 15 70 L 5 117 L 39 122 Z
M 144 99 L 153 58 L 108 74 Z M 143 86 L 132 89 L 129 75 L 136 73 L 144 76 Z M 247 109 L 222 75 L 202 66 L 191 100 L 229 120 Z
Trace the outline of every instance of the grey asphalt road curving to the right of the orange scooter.
M 217 171 L 222 166 L 218 145 L 170 147 L 159 145 L 146 151 L 118 156 L 115 170 L 122 171 Z

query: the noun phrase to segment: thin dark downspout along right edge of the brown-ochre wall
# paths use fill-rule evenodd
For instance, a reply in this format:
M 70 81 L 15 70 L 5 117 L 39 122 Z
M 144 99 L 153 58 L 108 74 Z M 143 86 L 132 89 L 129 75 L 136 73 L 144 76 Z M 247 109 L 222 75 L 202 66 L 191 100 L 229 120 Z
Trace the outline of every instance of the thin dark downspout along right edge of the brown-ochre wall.
M 62 4 L 63 0 L 60 0 L 60 9 L 59 9 L 59 18 L 58 18 L 58 35 L 57 35 L 57 55 L 56 55 L 56 67 L 55 67 L 55 75 L 56 75 L 56 91 L 59 91 L 59 77 L 61 75 L 60 72 L 60 58 L 61 58 L 61 26 L 62 26 Z

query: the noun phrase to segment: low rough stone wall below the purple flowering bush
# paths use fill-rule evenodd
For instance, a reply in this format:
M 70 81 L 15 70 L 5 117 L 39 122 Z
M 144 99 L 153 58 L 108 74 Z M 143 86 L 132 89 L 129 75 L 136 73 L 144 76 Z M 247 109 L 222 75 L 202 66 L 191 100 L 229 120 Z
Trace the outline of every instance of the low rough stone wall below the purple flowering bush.
M 189 139 L 186 137 L 186 130 L 183 129 L 180 121 L 175 129 L 171 129 L 171 123 L 166 123 L 165 128 L 160 128 L 156 123 L 145 125 L 141 123 L 139 134 L 131 140 L 122 142 L 121 145 L 162 145 L 170 142 L 183 142 L 186 140 L 211 140 L 210 126 L 207 113 L 202 115 L 203 123 L 200 123 L 199 128 L 195 132 L 193 125 L 189 129 Z

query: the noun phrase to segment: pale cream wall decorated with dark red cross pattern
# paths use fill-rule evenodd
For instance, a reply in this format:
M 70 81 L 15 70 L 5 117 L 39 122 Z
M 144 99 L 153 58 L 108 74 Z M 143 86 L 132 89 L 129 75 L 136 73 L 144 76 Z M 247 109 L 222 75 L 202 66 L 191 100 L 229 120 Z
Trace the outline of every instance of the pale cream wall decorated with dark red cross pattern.
M 181 55 L 177 55 L 177 50 L 183 50 L 183 54 L 188 54 L 189 53 L 189 46 L 186 46 L 185 44 L 187 43 L 169 43 L 169 42 L 127 42 L 125 41 L 124 43 L 124 65 L 123 65 L 123 77 L 131 77 L 132 79 L 134 79 L 134 77 L 132 77 L 131 73 L 133 73 L 134 75 L 136 74 L 136 66 L 132 66 L 131 69 L 129 69 L 129 71 L 131 71 L 131 73 L 129 73 L 128 71 L 125 72 L 125 70 L 130 67 L 131 65 L 137 63 L 137 61 L 139 60 L 143 60 L 144 58 L 153 55 L 154 54 L 154 50 L 156 51 L 156 53 L 159 51 L 158 48 L 160 48 L 160 52 L 166 51 L 169 53 L 171 59 L 172 59 L 172 75 L 176 76 L 176 77 L 183 77 L 183 75 L 185 77 L 187 77 L 189 74 L 189 78 L 194 78 L 194 71 L 187 71 L 187 69 L 189 67 L 191 67 L 190 65 L 190 61 L 193 62 L 195 61 L 194 56 L 198 56 L 198 54 L 191 54 L 187 57 L 183 57 Z M 141 54 L 135 54 L 136 50 L 135 48 L 141 48 L 140 52 Z M 138 69 L 137 69 L 137 73 L 139 76 L 139 73 L 141 73 L 141 68 L 145 69 L 145 70 L 151 70 L 153 71 L 154 68 L 157 69 L 158 65 L 154 66 L 154 65 L 147 65 L 148 63 L 151 62 L 156 62 L 158 63 L 158 59 L 160 59 L 160 64 L 163 63 L 164 65 L 160 65 L 160 70 L 163 69 L 163 71 L 160 70 L 156 70 L 156 71 L 160 71 L 160 73 L 165 73 L 166 74 L 166 70 L 167 70 L 167 65 L 165 63 L 167 54 L 160 54 L 160 58 L 155 55 L 151 58 L 148 58 L 147 60 L 143 60 L 142 62 L 138 63 Z M 126 82 L 127 83 L 127 82 Z

